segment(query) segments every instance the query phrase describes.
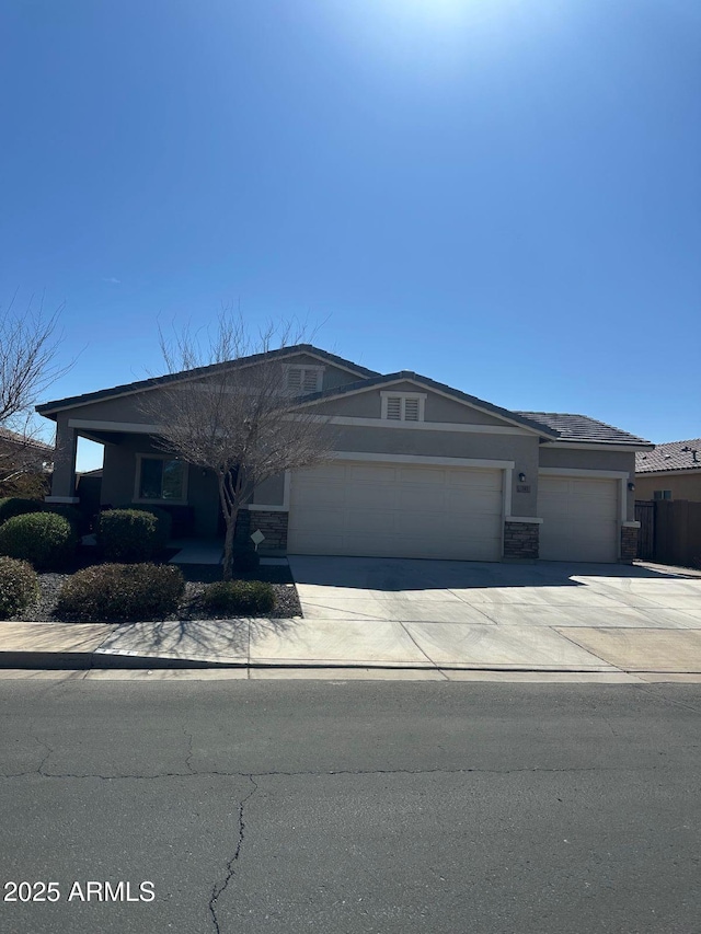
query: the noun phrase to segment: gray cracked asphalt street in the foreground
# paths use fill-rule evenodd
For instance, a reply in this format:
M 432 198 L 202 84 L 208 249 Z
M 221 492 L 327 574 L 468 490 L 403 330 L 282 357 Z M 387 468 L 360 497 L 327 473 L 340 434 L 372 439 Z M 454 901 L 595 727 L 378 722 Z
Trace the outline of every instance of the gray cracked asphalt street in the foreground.
M 3 934 L 701 931 L 699 684 L 7 681 L 0 712 Z

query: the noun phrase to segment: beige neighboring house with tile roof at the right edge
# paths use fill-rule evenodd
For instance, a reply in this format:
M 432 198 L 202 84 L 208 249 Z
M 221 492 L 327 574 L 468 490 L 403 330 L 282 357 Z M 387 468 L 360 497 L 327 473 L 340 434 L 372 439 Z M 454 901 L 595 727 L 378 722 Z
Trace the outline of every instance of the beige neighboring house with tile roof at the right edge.
M 701 503 L 701 438 L 640 451 L 635 456 L 635 499 Z

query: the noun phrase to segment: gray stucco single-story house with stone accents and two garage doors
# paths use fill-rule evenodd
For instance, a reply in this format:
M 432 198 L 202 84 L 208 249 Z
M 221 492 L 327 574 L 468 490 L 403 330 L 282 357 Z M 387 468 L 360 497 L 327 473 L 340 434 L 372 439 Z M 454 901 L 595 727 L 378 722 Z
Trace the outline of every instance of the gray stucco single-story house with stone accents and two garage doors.
M 251 530 L 290 554 L 630 561 L 635 452 L 652 445 L 582 415 L 510 412 L 413 372 L 382 376 L 310 345 L 272 351 L 300 405 L 327 418 L 326 463 L 262 484 Z M 260 357 L 228 365 L 254 367 Z M 197 379 L 216 379 L 217 367 Z M 105 445 L 102 504 L 175 505 L 215 535 L 216 477 L 153 445 L 143 394 L 176 373 L 48 402 L 53 501 L 73 501 L 76 441 Z M 141 401 L 141 404 L 140 404 Z M 331 430 L 331 429 L 330 429 Z

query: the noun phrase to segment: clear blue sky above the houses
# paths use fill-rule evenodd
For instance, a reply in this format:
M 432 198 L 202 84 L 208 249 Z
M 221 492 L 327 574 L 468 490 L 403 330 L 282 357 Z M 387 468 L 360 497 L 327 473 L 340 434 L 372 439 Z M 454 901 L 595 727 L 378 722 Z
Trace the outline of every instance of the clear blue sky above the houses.
M 49 397 L 233 303 L 701 434 L 698 0 L 4 0 L 0 49 L 0 302 L 66 302 L 82 350 Z

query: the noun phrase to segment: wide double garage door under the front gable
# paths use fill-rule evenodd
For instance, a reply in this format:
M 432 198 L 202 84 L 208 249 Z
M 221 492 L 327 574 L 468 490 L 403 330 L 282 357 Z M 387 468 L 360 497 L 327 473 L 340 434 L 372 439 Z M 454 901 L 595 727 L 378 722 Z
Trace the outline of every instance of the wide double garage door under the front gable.
M 334 462 L 292 475 L 290 554 L 498 561 L 502 471 Z

